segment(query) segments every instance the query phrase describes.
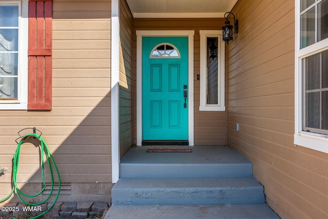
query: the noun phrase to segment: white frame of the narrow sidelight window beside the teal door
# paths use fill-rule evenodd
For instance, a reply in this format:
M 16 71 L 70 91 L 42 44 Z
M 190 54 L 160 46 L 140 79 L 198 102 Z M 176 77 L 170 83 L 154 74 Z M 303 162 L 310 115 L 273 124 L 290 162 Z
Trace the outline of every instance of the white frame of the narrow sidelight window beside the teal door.
M 226 111 L 224 106 L 224 48 L 222 31 L 199 30 L 200 34 L 200 106 L 199 111 Z M 218 104 L 207 104 L 206 102 L 206 76 L 207 76 L 207 38 L 217 37 L 217 61 L 218 61 Z

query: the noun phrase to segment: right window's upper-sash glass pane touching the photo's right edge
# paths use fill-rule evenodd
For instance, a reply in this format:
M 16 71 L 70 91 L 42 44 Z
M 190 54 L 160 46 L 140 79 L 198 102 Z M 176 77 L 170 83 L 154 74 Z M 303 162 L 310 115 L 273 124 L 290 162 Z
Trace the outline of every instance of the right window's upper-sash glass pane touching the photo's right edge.
M 328 1 L 321 2 L 318 7 L 318 41 L 322 41 L 328 37 Z

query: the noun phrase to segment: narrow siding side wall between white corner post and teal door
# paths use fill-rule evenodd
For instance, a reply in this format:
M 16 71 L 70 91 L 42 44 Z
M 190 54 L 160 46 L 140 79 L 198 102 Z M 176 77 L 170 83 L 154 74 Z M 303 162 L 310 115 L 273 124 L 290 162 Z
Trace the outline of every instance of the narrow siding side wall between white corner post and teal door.
M 125 0 L 120 1 L 120 74 L 119 74 L 119 131 L 120 156 L 132 146 L 133 138 L 133 62 L 132 15 Z

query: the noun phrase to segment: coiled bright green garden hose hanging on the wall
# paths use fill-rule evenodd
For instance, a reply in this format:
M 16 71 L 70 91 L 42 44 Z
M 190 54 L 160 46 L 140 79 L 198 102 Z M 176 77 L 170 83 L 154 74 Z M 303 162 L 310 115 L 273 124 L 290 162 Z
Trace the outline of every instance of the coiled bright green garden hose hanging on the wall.
M 38 140 L 40 141 L 40 149 L 41 149 L 41 153 L 40 153 L 40 156 L 41 156 L 41 176 L 42 176 L 42 182 L 43 182 L 43 188 L 40 192 L 38 192 L 37 194 L 34 194 L 34 195 L 28 195 L 28 194 L 25 194 L 23 193 L 22 191 L 19 190 L 18 186 L 17 186 L 17 173 L 18 173 L 18 165 L 19 165 L 19 155 L 20 155 L 20 147 L 22 146 L 23 144 L 23 140 L 26 140 L 27 137 L 37 137 Z M 39 202 L 39 203 L 28 203 L 26 201 L 23 200 L 22 198 L 22 195 L 23 196 L 26 196 L 26 197 L 36 197 L 40 194 L 43 193 L 43 191 L 46 189 L 46 182 L 45 182 L 45 177 L 44 177 L 44 153 L 47 157 L 47 162 L 48 162 L 48 166 L 49 166 L 49 171 L 50 171 L 50 177 L 51 177 L 51 190 L 50 190 L 50 193 L 48 195 L 48 197 L 43 201 L 43 202 Z M 52 192 L 53 192 L 53 175 L 52 175 L 52 168 L 51 168 L 51 164 L 50 164 L 50 161 L 52 162 L 54 168 L 56 169 L 56 172 L 57 172 L 57 176 L 58 176 L 58 192 L 57 192 L 57 195 L 55 197 L 55 200 L 53 202 L 53 204 L 46 210 L 44 211 L 43 213 L 39 214 L 38 216 L 35 216 L 35 217 L 31 217 L 30 219 L 34 219 L 34 218 L 37 218 L 39 216 L 42 216 L 44 215 L 45 213 L 47 213 L 56 203 L 57 199 L 58 199 L 58 196 L 59 196 L 59 192 L 60 192 L 60 176 L 59 176 L 59 171 L 57 169 L 57 166 L 53 160 L 53 157 L 49 151 L 49 148 L 44 140 L 44 138 L 42 136 L 40 136 L 39 134 L 35 134 L 35 133 L 31 133 L 31 134 L 27 134 L 25 135 L 24 137 L 22 137 L 22 140 L 20 140 L 20 142 L 18 143 L 18 146 L 17 146 L 17 149 L 16 149 L 16 152 L 14 153 L 13 155 L 13 169 L 12 169 L 12 178 L 13 178 L 13 187 L 12 187 L 12 190 L 10 192 L 10 194 L 5 197 L 3 200 L 0 200 L 0 202 L 4 202 L 6 201 L 14 192 L 17 194 L 18 198 L 20 201 L 22 201 L 24 204 L 27 204 L 27 205 L 41 205 L 41 204 L 44 204 L 45 202 L 47 202 L 50 198 L 50 196 L 52 195 Z M 15 219 L 15 218 L 14 218 Z

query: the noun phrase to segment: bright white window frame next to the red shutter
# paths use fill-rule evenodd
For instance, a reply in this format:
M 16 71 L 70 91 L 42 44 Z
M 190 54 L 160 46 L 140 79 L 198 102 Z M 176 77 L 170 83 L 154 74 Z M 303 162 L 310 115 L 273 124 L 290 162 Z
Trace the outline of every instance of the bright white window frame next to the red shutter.
M 27 110 L 28 102 L 28 0 L 2 1 L 0 4 L 18 4 L 18 98 L 1 101 L 0 110 Z

